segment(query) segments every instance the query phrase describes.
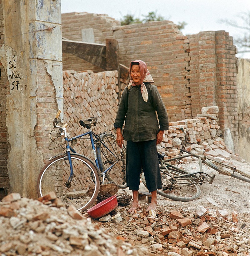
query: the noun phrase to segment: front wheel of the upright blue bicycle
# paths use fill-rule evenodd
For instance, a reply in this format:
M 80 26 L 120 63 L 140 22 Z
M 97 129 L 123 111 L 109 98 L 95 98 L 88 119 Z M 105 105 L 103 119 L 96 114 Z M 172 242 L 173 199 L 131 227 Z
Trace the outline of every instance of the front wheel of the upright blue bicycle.
M 68 158 L 60 155 L 50 160 L 41 170 L 37 180 L 37 194 L 44 196 L 55 192 L 68 207 L 88 209 L 98 196 L 100 180 L 96 165 L 85 156 L 71 154 L 73 176 L 70 176 Z

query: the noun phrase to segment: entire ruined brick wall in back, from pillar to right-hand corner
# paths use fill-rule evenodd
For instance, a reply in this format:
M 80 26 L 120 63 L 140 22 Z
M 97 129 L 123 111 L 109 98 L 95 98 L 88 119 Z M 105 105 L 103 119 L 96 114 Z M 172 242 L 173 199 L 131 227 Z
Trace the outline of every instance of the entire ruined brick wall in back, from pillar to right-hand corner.
M 158 86 L 167 107 L 170 121 L 194 118 L 202 107 L 218 105 L 222 130 L 229 125 L 228 118 L 224 118 L 228 116 L 226 109 L 218 102 L 223 97 L 223 91 L 217 86 L 221 76 L 229 75 L 229 80 L 236 78 L 236 71 L 224 73 L 220 67 L 221 62 L 234 67 L 236 62 L 236 48 L 232 37 L 225 31 L 205 31 L 183 36 L 171 21 L 119 26 L 117 21 L 104 15 L 62 14 L 64 37 L 80 40 L 83 28 L 93 28 L 96 43 L 104 43 L 106 38 L 118 40 L 121 64 L 128 66 L 131 60 L 136 59 L 147 63 L 154 84 Z M 79 70 L 78 64 L 70 62 L 68 58 L 68 68 L 71 65 L 71 68 Z M 86 67 L 92 69 L 90 64 Z M 230 97 L 235 98 L 234 90 L 231 92 Z M 227 108 L 226 112 L 228 110 L 232 119 L 235 119 L 235 111 Z

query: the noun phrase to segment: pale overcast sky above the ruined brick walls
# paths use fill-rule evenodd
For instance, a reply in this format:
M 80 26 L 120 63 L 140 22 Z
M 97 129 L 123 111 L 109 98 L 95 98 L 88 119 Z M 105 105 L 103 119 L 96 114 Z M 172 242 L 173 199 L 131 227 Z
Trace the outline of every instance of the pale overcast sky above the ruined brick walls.
M 108 14 L 121 20 L 127 14 L 143 19 L 143 15 L 155 12 L 175 24 L 185 21 L 187 25 L 182 33 L 197 34 L 200 31 L 225 30 L 233 38 L 244 33 L 222 20 L 236 21 L 242 13 L 250 12 L 250 0 L 61 0 L 62 13 L 87 12 Z M 239 58 L 249 58 L 250 53 L 237 54 Z

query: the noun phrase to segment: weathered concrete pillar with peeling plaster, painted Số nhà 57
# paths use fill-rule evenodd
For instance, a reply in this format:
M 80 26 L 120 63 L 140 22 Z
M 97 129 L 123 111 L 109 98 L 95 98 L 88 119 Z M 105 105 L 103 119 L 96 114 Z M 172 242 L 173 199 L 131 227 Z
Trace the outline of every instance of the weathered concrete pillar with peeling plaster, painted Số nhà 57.
M 57 109 L 63 110 L 61 1 L 1 2 L 0 61 L 8 78 L 8 193 L 35 198 L 49 125 Z

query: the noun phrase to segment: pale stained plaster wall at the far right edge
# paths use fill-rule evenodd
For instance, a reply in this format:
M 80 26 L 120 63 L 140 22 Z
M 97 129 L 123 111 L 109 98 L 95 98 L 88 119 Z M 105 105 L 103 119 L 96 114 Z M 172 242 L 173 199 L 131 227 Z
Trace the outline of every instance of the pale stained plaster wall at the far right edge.
M 250 162 L 250 60 L 238 59 L 239 154 Z

